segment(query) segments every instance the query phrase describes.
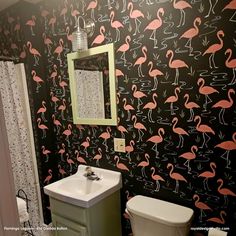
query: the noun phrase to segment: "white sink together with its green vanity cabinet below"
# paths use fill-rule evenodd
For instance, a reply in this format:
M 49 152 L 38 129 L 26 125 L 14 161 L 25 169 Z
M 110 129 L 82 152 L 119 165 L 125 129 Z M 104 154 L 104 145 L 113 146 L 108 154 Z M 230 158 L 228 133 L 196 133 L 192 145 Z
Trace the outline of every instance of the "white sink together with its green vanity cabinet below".
M 121 173 L 92 167 L 99 180 L 76 174 L 44 187 L 50 197 L 55 236 L 121 236 Z

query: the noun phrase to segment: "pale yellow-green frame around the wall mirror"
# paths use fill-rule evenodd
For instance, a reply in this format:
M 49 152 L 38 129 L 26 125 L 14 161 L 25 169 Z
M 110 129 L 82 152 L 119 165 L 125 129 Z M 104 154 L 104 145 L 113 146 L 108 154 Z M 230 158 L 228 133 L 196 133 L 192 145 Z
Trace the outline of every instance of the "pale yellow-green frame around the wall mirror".
M 74 73 L 74 60 L 83 59 L 85 57 L 94 56 L 101 53 L 108 54 L 109 66 L 109 93 L 110 93 L 110 111 L 111 118 L 81 118 L 77 114 L 77 95 L 76 95 L 76 81 Z M 70 81 L 70 93 L 72 103 L 73 123 L 81 125 L 117 125 L 117 103 L 116 103 L 116 75 L 115 75 L 115 57 L 114 44 L 106 44 L 103 46 L 89 48 L 85 51 L 73 52 L 67 54 L 68 72 Z

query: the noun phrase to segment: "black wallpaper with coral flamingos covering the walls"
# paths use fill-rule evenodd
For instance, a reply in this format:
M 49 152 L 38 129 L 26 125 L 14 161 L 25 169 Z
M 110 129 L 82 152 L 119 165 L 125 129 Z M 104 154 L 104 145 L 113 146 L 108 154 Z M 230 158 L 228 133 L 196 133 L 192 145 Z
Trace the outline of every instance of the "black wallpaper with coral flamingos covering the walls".
M 53 0 L 5 10 L 0 53 L 26 65 L 41 187 L 80 163 L 117 170 L 122 214 L 143 194 L 194 209 L 193 235 L 209 227 L 235 235 L 235 10 L 235 0 Z M 95 21 L 89 47 L 115 44 L 117 127 L 72 122 L 66 55 L 79 15 Z M 114 137 L 125 138 L 126 153 L 114 152 Z M 131 231 L 125 214 L 122 228 Z

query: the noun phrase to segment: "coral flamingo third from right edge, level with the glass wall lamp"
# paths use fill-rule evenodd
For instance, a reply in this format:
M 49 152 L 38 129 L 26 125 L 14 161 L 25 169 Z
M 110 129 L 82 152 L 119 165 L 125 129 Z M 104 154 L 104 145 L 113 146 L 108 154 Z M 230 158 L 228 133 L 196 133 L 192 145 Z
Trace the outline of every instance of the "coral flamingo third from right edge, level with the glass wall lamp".
M 199 34 L 198 26 L 201 25 L 201 18 L 197 17 L 193 21 L 193 27 L 185 31 L 181 36 L 180 39 L 185 38 L 188 39 L 187 43 L 185 44 L 186 48 L 189 48 L 189 56 L 193 56 L 193 47 L 192 47 L 192 39 Z

